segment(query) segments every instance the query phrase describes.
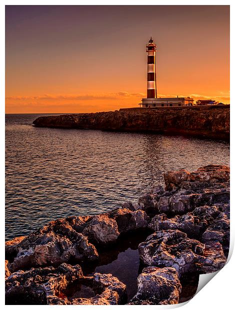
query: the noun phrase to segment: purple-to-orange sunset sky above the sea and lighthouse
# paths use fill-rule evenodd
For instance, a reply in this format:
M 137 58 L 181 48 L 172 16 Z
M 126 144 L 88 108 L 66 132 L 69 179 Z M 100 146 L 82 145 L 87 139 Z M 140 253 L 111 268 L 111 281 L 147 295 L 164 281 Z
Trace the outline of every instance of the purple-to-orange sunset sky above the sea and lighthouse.
M 157 96 L 229 103 L 228 5 L 8 5 L 6 113 L 138 106 L 150 35 Z

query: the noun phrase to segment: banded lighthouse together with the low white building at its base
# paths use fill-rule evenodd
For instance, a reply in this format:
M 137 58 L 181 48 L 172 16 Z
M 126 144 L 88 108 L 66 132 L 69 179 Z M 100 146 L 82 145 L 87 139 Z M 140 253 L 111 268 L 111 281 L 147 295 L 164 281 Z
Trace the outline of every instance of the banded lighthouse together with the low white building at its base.
M 158 97 L 156 93 L 156 44 L 152 37 L 146 44 L 147 52 L 147 97 L 142 98 L 140 107 L 171 107 L 171 106 L 191 106 L 193 98 L 190 97 Z

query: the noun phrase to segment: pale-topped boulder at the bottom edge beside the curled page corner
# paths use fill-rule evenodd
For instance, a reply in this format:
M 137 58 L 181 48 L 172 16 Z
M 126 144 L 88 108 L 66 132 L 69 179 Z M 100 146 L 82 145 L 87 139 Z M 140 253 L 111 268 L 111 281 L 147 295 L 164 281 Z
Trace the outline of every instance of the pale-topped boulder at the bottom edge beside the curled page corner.
M 137 278 L 138 290 L 128 304 L 178 303 L 181 284 L 174 268 L 145 267 Z

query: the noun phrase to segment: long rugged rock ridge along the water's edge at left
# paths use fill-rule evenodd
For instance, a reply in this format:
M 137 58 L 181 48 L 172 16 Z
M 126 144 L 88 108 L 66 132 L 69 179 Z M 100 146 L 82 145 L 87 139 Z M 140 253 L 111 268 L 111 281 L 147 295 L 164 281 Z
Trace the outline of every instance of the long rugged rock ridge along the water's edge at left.
M 98 252 L 93 243 L 113 243 L 121 233 L 145 228 L 148 222 L 149 217 L 144 211 L 129 209 L 51 221 L 26 237 L 5 243 L 6 255 L 13 256 L 9 270 L 58 265 L 70 259 L 94 261 Z

